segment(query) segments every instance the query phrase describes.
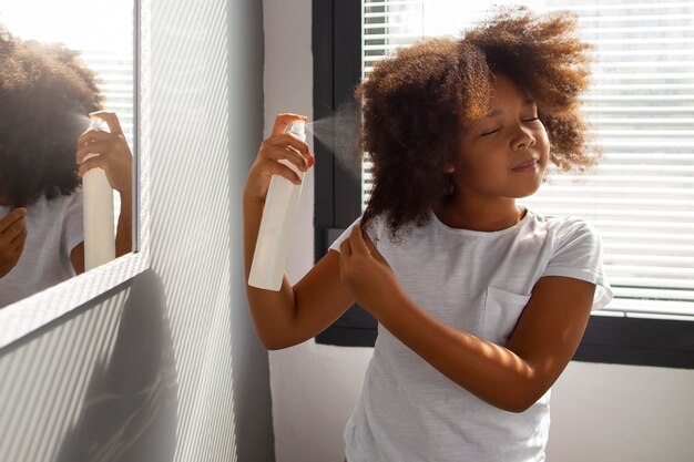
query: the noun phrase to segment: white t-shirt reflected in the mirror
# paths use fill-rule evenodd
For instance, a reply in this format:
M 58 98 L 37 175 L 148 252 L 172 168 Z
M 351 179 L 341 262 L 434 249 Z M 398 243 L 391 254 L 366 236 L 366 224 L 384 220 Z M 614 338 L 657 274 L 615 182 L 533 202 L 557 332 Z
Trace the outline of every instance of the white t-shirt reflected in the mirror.
M 0 206 L 0 216 L 10 207 Z M 84 240 L 82 188 L 27 207 L 27 242 L 19 261 L 0 278 L 0 308 L 75 275 L 70 254 Z

